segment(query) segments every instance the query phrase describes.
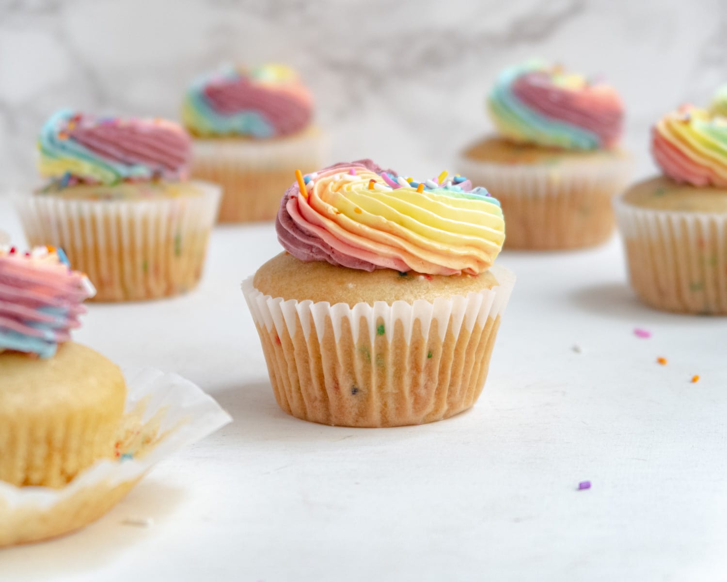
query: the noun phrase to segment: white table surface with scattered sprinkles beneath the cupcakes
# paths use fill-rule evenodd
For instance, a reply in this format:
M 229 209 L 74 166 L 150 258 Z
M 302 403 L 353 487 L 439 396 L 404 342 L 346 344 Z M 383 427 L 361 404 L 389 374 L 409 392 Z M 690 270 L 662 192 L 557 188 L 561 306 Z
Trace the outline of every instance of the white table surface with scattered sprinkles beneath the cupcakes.
M 3 199 L 0 230 L 23 243 Z M 518 282 L 473 410 L 320 426 L 278 409 L 239 290 L 278 251 L 270 224 L 218 228 L 189 295 L 89 306 L 77 340 L 235 420 L 80 533 L 0 551 L 0 580 L 725 579 L 726 319 L 640 306 L 616 239 L 506 251 Z

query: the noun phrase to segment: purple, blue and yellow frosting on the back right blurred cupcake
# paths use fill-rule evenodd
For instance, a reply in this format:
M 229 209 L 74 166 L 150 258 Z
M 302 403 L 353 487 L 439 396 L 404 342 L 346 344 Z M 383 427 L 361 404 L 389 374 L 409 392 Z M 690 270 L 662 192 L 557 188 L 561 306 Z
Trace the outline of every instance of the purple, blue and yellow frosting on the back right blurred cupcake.
M 500 73 L 487 103 L 498 131 L 516 143 L 593 150 L 615 146 L 622 133 L 612 87 L 539 60 Z

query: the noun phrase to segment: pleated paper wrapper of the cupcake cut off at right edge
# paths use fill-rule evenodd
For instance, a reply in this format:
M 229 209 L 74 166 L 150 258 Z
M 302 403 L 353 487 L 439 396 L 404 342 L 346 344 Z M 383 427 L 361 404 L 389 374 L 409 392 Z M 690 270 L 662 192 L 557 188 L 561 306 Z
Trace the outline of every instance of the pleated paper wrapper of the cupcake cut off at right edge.
M 649 305 L 727 314 L 727 214 L 651 210 L 614 201 L 630 283 Z

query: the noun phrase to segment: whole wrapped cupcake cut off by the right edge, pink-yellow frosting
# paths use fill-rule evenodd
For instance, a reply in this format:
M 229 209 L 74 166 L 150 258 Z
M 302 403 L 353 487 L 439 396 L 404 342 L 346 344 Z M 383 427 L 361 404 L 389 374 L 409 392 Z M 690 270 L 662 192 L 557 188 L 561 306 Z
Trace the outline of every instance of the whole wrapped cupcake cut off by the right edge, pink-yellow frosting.
M 684 105 L 651 151 L 663 175 L 615 204 L 631 286 L 657 309 L 727 314 L 727 118 Z

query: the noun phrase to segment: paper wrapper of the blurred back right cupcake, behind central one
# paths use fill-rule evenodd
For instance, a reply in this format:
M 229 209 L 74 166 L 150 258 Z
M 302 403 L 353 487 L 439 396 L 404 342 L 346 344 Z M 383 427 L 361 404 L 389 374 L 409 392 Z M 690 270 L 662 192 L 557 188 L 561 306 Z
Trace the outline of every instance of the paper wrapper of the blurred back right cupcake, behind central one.
M 493 164 L 459 160 L 459 172 L 502 204 L 505 247 L 589 247 L 614 231 L 611 202 L 628 183 L 630 159 L 598 164 Z

